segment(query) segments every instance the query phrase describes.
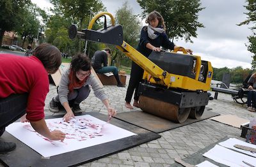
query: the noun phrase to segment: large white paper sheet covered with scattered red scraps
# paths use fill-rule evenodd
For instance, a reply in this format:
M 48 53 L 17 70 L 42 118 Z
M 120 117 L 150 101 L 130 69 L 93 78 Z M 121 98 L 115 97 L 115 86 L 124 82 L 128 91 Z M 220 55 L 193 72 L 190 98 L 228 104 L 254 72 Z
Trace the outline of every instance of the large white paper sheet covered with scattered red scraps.
M 63 142 L 50 141 L 44 138 L 44 136 L 36 133 L 28 122 L 14 122 L 6 127 L 6 131 L 44 157 L 56 156 L 136 135 L 91 115 L 77 116 L 76 120 L 70 124 L 63 122 L 62 118 L 45 120 L 51 131 L 57 129 L 66 133 Z

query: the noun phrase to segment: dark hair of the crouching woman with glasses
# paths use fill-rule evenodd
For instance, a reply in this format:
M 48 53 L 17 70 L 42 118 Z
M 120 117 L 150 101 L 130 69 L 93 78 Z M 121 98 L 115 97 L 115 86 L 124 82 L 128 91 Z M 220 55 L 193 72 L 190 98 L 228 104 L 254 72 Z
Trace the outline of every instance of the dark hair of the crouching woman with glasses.
M 70 65 L 70 69 L 73 71 L 79 71 L 82 69 L 83 71 L 88 71 L 92 68 L 91 61 L 87 55 L 77 54 L 73 57 Z

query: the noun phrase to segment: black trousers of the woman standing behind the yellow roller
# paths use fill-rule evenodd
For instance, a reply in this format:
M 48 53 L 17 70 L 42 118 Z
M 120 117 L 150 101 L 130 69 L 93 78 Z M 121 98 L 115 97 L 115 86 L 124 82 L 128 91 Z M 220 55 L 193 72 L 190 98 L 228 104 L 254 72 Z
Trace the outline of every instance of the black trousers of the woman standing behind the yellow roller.
M 139 87 L 139 83 L 142 80 L 143 72 L 144 72 L 144 70 L 142 68 L 140 68 L 140 66 L 138 66 L 135 62 L 132 62 L 131 78 L 129 80 L 129 85 L 127 87 L 127 92 L 126 92 L 126 96 L 125 96 L 126 102 L 131 103 L 132 94 L 134 92 L 134 89 L 135 89 L 134 100 L 138 101 L 138 99 L 139 99 L 138 87 Z

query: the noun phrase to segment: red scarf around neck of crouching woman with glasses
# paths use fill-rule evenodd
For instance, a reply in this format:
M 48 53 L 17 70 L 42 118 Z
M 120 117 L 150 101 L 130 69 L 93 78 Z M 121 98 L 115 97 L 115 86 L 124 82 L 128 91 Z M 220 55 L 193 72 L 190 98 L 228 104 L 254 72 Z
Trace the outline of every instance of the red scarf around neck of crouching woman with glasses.
M 68 83 L 68 90 L 70 92 L 73 92 L 74 88 L 82 87 L 84 85 L 84 83 L 88 79 L 88 76 L 86 76 L 86 78 L 84 78 L 84 80 L 79 80 L 76 77 L 76 72 L 73 71 L 73 70 L 70 70 L 70 73 L 68 75 L 68 79 L 70 80 L 70 82 Z

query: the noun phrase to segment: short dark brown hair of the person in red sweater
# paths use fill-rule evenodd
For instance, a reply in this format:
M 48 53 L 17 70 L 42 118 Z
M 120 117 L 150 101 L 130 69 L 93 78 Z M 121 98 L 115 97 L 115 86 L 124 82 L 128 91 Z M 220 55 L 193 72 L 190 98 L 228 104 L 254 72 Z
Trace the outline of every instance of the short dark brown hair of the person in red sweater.
M 37 57 L 50 74 L 56 73 L 61 64 L 60 50 L 49 43 L 42 43 L 35 48 L 33 55 Z

